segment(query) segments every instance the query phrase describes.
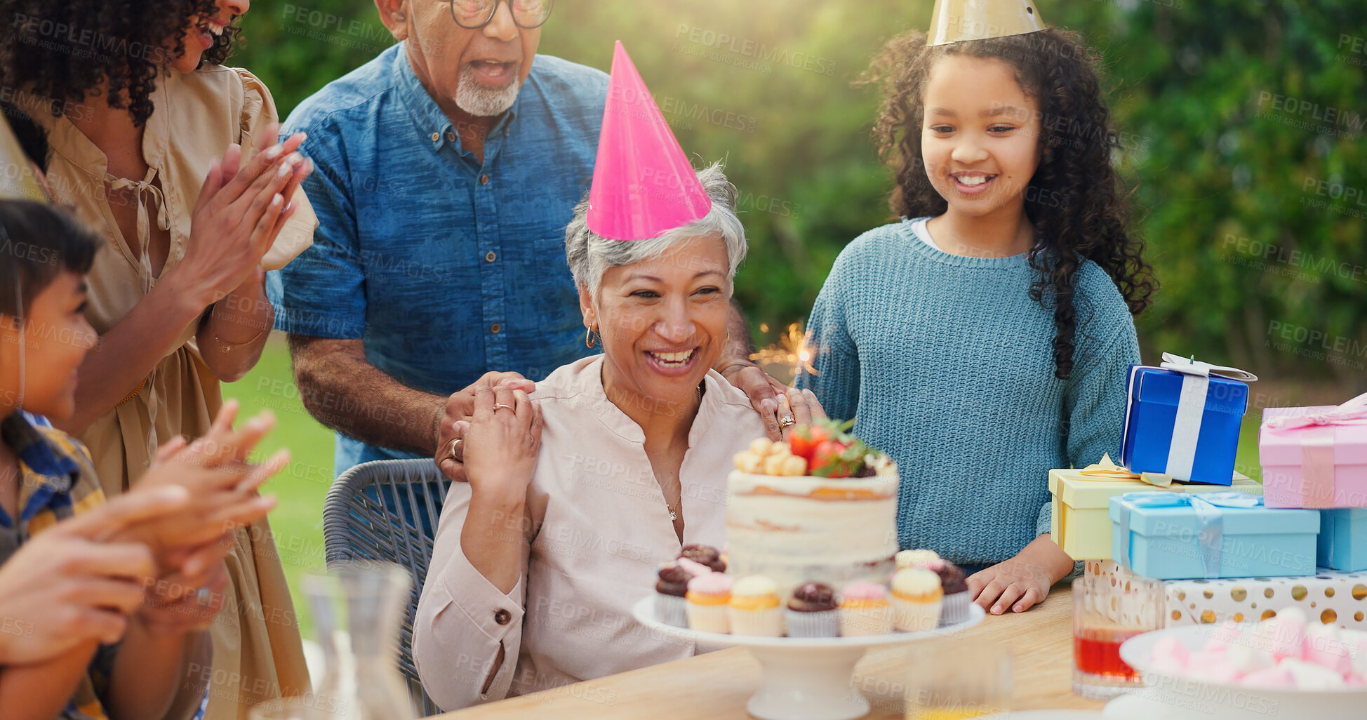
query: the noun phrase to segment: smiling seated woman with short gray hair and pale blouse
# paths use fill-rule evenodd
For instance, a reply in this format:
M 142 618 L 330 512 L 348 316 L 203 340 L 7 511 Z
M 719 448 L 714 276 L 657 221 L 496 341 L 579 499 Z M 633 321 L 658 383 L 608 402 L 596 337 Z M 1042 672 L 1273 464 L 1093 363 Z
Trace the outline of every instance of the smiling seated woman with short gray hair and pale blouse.
M 648 633 L 632 604 L 682 545 L 725 542 L 731 458 L 766 434 L 711 370 L 745 231 L 720 167 L 697 178 L 711 210 L 652 239 L 595 235 L 580 202 L 566 255 L 603 354 L 530 396 L 477 392 L 470 481 L 451 485 L 413 620 L 413 660 L 443 709 L 694 653 Z

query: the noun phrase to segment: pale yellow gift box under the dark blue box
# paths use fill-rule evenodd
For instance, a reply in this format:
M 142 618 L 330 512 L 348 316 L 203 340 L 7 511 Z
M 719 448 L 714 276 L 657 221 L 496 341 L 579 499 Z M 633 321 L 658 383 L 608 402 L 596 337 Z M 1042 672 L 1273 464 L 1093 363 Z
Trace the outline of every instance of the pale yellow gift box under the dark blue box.
M 1054 496 L 1054 516 L 1050 522 L 1050 536 L 1073 560 L 1110 560 L 1110 499 L 1126 492 L 1167 490 L 1167 492 L 1219 492 L 1239 490 L 1263 495 L 1263 485 L 1234 473 L 1234 482 L 1226 485 L 1206 485 L 1200 482 L 1176 482 L 1166 475 L 1146 473 L 1140 475 L 1117 467 L 1110 458 L 1083 469 L 1048 471 L 1048 492 Z

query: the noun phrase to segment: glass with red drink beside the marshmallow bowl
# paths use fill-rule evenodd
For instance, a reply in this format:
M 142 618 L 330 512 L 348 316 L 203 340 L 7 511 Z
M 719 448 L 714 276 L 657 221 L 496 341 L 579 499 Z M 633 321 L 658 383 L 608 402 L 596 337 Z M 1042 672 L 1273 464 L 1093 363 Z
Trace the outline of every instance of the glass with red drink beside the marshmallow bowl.
M 1073 693 L 1109 700 L 1143 684 L 1120 645 L 1162 627 L 1162 600 L 1163 583 L 1147 578 L 1073 581 Z

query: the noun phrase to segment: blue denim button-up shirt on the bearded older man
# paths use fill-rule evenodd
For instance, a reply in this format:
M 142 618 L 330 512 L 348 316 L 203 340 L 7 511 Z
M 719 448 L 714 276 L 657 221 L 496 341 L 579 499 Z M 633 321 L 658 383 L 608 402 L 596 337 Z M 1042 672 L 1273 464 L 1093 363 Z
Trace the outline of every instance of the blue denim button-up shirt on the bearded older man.
M 489 370 L 541 380 L 591 352 L 565 260 L 565 225 L 589 187 L 607 75 L 537 55 L 484 142 L 461 146 L 403 44 L 299 104 L 282 137 L 309 134 L 313 246 L 267 292 L 276 328 L 361 337 L 405 385 L 448 395 Z M 323 413 L 396 410 L 319 399 Z M 336 471 L 410 456 L 338 436 Z

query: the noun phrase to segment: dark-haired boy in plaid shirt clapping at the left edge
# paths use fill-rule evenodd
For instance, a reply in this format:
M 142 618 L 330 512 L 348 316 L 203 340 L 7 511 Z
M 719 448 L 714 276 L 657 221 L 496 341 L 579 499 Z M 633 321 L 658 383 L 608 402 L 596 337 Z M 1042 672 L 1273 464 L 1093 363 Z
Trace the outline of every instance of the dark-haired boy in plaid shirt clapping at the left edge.
M 5 720 L 189 717 L 209 663 L 234 527 L 264 516 L 256 489 L 287 458 L 243 462 L 269 418 L 226 406 L 193 445 L 168 443 L 105 503 L 85 448 L 33 424 L 74 410 L 96 335 L 85 272 L 98 240 L 63 210 L 0 201 L 0 710 Z

